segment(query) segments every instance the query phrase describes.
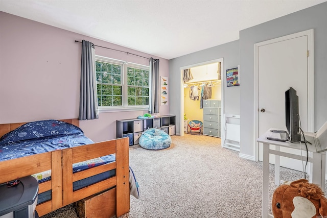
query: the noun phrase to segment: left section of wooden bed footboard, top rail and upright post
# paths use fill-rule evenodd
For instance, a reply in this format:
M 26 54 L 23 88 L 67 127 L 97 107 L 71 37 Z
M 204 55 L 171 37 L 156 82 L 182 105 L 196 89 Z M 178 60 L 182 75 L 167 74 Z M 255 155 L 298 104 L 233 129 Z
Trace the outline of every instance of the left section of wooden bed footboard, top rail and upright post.
M 61 151 L 21 157 L 0 162 L 0 183 L 30 176 L 51 169 L 52 180 L 39 184 L 39 193 L 52 190 L 50 201 L 37 205 L 38 214 L 44 215 L 62 207 Z

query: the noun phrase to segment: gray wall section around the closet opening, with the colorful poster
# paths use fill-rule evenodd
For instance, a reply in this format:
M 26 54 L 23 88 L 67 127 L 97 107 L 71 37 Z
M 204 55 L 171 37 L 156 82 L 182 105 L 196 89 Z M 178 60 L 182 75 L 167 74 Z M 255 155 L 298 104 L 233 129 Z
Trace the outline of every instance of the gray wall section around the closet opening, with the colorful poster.
M 179 134 L 181 118 L 181 96 L 179 94 L 181 77 L 180 67 L 211 61 L 219 58 L 224 58 L 224 69 L 222 69 L 222 74 L 224 74 L 225 76 L 226 69 L 237 67 L 239 65 L 239 40 L 169 60 L 169 111 L 171 114 L 176 115 L 176 134 Z M 224 83 L 223 85 L 225 87 L 225 113 L 239 115 L 240 86 L 227 88 L 226 83 Z

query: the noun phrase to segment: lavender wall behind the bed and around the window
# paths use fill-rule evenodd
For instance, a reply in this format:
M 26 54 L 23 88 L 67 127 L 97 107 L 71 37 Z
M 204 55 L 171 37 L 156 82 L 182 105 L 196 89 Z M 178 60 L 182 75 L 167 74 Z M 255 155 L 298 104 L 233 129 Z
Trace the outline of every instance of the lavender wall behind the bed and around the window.
M 0 124 L 78 118 L 81 43 L 75 40 L 159 58 L 1 11 L 0 30 Z M 149 65 L 145 58 L 101 47 L 96 55 Z M 168 60 L 159 59 L 160 76 L 168 77 Z M 146 112 L 100 113 L 99 119 L 81 121 L 80 127 L 95 142 L 113 139 L 116 119 Z M 160 114 L 169 114 L 169 107 L 160 107 Z

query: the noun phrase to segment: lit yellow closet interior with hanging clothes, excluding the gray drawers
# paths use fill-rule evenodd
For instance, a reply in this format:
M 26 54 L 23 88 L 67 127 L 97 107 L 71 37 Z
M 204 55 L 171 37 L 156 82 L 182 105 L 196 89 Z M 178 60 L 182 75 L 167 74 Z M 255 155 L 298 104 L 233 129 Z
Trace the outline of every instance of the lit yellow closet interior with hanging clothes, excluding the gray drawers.
M 184 133 L 188 130 L 187 125 L 190 120 L 200 120 L 205 123 L 203 107 L 207 106 L 203 105 L 204 102 L 207 105 L 207 102 L 211 102 L 208 100 L 221 101 L 221 73 L 221 62 L 184 69 Z M 217 125 L 221 125 L 219 121 L 217 122 Z M 212 136 L 221 137 L 221 134 Z

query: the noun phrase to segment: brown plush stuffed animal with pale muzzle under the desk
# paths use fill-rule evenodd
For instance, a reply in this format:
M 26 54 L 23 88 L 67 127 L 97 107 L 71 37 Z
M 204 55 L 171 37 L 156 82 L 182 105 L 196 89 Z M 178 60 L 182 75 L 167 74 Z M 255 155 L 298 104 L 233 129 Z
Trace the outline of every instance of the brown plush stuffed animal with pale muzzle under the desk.
M 327 216 L 327 199 L 320 187 L 299 179 L 276 188 L 272 197 L 274 218 L 316 218 Z

